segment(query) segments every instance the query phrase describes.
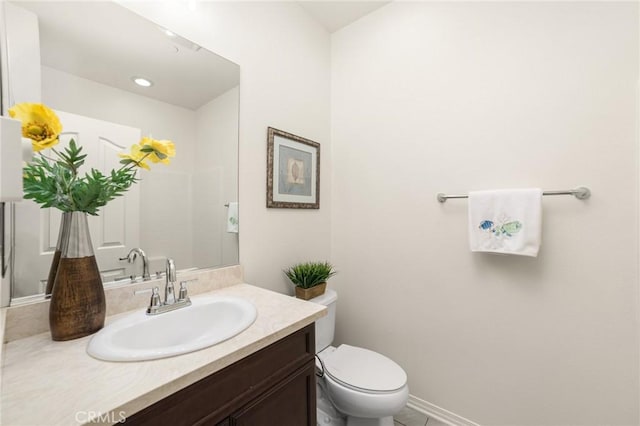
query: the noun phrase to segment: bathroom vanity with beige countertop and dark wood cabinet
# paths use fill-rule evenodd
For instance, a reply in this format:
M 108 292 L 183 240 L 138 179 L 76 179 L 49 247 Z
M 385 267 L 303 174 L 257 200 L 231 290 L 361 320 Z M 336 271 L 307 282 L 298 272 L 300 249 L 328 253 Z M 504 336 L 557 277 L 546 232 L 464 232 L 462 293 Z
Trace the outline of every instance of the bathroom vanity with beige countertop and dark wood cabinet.
M 4 312 L 9 342 L 2 347 L 1 424 L 266 426 L 277 419 L 283 426 L 315 425 L 314 322 L 326 308 L 244 283 L 214 288 L 200 293 L 250 301 L 255 322 L 217 345 L 152 361 L 92 358 L 86 353 L 91 336 L 13 340 L 7 338 L 14 334 L 11 323 L 30 319 Z M 107 300 L 128 300 L 130 293 L 126 288 L 126 297 L 108 294 Z

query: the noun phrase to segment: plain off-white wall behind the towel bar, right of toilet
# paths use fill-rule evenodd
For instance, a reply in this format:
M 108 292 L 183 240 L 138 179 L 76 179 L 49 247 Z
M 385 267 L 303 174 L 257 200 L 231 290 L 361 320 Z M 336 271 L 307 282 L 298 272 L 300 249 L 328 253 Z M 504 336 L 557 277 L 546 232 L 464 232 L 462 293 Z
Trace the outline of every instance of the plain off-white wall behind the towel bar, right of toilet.
M 332 37 L 337 337 L 486 425 L 638 414 L 637 3 L 394 2 Z M 465 200 L 545 197 L 538 258 L 472 254 Z

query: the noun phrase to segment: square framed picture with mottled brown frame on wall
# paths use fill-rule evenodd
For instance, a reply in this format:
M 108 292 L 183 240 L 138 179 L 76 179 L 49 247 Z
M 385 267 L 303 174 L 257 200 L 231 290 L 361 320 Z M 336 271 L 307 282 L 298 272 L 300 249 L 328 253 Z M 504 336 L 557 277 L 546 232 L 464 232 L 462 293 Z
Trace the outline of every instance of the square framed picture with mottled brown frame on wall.
M 320 144 L 269 127 L 267 207 L 320 208 Z

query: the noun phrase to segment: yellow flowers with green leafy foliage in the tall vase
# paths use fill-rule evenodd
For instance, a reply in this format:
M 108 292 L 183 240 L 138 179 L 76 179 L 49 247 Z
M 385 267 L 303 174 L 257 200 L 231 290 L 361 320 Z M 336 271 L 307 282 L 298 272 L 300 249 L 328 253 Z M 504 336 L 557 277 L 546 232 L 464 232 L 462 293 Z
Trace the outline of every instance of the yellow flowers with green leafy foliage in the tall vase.
M 151 163 L 169 164 L 175 146 L 168 140 L 143 137 L 127 154 L 118 154 L 120 168 L 105 175 L 92 168 L 84 173 L 80 167 L 86 154 L 71 139 L 69 146 L 58 150 L 62 124 L 58 116 L 43 104 L 20 103 L 9 115 L 22 122 L 22 136 L 31 139 L 34 159 L 23 168 L 24 198 L 42 208 L 54 207 L 63 212 L 80 211 L 96 216 L 100 207 L 123 195 L 134 183 L 138 168 L 150 170 Z M 50 153 L 43 152 L 49 149 Z

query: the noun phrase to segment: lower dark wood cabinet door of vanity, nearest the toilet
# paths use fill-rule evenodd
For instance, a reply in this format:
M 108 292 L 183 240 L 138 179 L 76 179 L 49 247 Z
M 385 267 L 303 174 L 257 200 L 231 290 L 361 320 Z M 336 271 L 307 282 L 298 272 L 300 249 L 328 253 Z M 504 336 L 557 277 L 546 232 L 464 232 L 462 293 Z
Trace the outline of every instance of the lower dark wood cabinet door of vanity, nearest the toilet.
M 315 363 L 304 367 L 230 418 L 232 426 L 316 426 Z

